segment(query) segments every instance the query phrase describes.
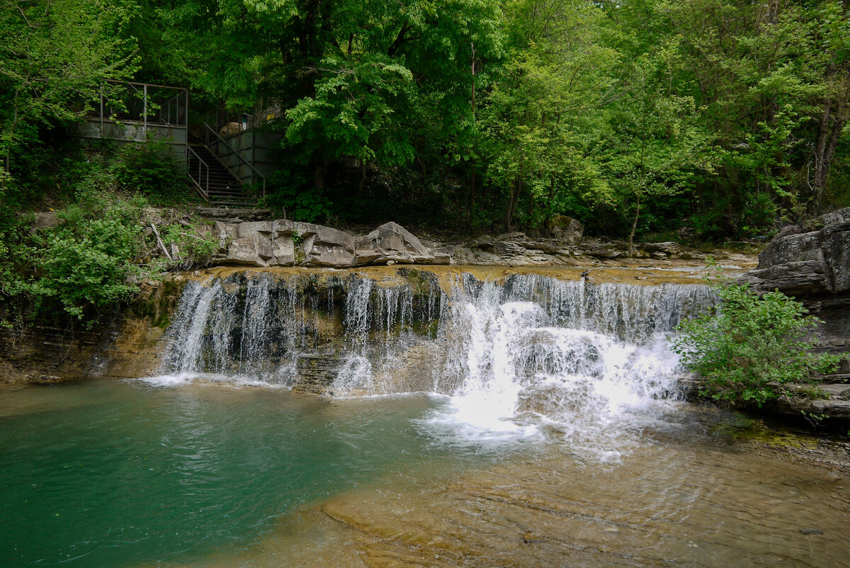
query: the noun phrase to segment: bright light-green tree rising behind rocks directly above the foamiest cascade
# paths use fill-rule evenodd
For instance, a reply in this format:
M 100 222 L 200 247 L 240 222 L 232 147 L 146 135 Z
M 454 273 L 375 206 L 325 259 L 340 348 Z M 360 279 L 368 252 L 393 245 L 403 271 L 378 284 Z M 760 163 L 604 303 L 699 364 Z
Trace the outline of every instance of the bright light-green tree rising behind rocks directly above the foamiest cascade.
M 489 179 L 507 194 L 509 230 L 525 194 L 527 224 L 570 203 L 613 202 L 599 168 L 605 108 L 620 54 L 604 42 L 605 14 L 562 0 L 507 3 L 510 57 L 484 99 L 481 130 Z

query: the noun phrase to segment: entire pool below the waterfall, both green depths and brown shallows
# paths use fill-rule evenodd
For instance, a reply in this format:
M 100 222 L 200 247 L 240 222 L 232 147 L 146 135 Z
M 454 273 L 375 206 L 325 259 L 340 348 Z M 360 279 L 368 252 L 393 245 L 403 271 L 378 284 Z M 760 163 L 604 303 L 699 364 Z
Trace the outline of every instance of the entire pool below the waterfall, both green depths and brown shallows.
M 643 435 L 450 438 L 445 397 L 3 389 L 0 565 L 848 565 L 850 480 L 674 404 Z M 804 534 L 805 533 L 805 534 Z

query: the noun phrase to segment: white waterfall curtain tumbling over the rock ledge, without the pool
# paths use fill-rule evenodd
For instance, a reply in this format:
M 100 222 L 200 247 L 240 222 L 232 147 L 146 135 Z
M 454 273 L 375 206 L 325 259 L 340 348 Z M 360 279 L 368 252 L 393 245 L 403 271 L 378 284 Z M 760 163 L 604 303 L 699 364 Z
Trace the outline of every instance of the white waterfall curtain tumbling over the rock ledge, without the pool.
M 702 285 L 399 275 L 190 282 L 163 371 L 335 396 L 426 391 L 445 400 L 422 427 L 453 442 L 554 435 L 608 457 L 677 398 L 665 335 L 714 304 Z

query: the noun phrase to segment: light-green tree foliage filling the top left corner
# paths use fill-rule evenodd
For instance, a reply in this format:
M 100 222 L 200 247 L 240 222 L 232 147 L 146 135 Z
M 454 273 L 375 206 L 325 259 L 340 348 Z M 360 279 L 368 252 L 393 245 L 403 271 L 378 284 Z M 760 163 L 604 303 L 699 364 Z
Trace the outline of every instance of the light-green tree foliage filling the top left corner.
M 122 37 L 127 11 L 104 0 L 2 0 L 0 3 L 0 151 L 10 172 L 14 151 L 42 124 L 87 111 L 104 79 L 133 70 L 133 42 Z

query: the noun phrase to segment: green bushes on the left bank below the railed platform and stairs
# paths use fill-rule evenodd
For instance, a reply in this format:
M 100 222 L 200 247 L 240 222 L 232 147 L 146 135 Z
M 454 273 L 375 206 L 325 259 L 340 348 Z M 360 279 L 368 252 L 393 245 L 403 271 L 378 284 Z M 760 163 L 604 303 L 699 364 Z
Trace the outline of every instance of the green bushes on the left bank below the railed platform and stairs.
M 131 299 L 144 278 L 203 264 L 218 249 L 202 222 L 150 207 L 178 202 L 183 190 L 156 147 L 87 144 L 68 153 L 55 191 L 66 205 L 49 223 L 34 227 L 33 215 L 8 206 L 0 216 L 0 321 L 31 309 L 94 321 Z

